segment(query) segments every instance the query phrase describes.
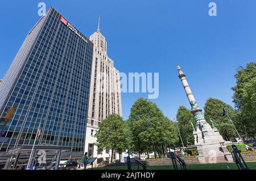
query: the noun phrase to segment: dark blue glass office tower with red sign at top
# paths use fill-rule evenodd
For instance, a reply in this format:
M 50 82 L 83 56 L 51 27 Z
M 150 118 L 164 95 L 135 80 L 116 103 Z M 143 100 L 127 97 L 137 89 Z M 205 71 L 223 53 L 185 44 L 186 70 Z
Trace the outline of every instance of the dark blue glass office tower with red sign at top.
M 0 84 L 0 116 L 16 107 L 0 151 L 33 145 L 40 125 L 36 144 L 84 153 L 92 60 L 93 43 L 51 7 Z

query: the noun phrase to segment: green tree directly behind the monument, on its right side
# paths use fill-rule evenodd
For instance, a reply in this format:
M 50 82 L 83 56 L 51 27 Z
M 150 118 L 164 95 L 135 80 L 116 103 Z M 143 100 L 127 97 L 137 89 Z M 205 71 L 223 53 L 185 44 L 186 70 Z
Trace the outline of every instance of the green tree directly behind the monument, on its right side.
M 214 121 L 214 124 L 218 131 L 220 131 L 221 136 L 226 141 L 235 141 L 238 137 L 234 127 L 229 120 L 228 116 L 222 116 L 223 106 L 225 107 L 226 113 L 230 116 L 234 123 L 236 123 L 237 112 L 229 106 L 228 104 L 222 102 L 221 100 L 209 98 L 204 106 L 204 116 L 205 119 L 210 123 L 210 119 Z M 239 131 L 239 128 L 237 128 Z

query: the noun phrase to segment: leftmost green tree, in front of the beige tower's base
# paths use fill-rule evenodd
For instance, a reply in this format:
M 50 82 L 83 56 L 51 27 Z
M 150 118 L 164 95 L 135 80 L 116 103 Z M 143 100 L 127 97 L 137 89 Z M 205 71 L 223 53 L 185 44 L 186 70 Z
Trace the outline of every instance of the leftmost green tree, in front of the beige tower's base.
M 127 148 L 127 124 L 119 115 L 110 115 L 99 125 L 99 131 L 95 134 L 97 138 L 96 145 L 98 151 L 104 149 L 112 150 L 111 163 L 113 162 L 113 154 L 117 152 L 121 154 Z

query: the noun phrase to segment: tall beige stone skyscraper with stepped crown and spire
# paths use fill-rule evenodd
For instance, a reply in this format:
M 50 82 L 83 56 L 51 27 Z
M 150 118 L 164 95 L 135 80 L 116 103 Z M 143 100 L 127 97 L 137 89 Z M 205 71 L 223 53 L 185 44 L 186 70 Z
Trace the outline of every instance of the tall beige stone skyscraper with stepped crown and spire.
M 100 31 L 100 17 L 97 31 L 90 36 L 90 41 L 94 44 L 94 53 L 85 150 L 89 155 L 98 157 L 100 162 L 102 157 L 109 157 L 109 151 L 97 153 L 94 134 L 101 121 L 109 115 L 115 113 L 122 116 L 121 91 L 119 71 L 115 69 L 114 61 L 108 57 L 108 44 Z

